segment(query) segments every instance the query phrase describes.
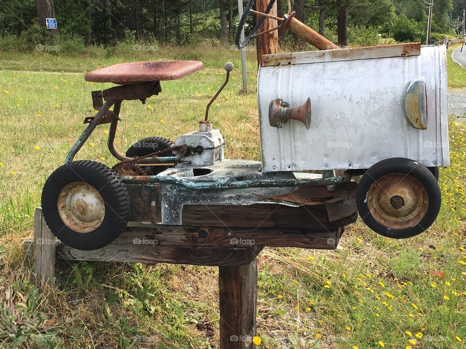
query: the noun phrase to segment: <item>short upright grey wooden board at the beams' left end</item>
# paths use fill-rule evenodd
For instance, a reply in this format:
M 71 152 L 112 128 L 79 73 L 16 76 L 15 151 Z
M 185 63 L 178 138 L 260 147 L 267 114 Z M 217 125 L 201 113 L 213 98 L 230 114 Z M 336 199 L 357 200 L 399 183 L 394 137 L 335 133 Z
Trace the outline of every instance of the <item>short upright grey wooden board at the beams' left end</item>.
M 34 212 L 34 272 L 38 283 L 52 286 L 55 277 L 56 238 L 42 216 L 42 208 Z

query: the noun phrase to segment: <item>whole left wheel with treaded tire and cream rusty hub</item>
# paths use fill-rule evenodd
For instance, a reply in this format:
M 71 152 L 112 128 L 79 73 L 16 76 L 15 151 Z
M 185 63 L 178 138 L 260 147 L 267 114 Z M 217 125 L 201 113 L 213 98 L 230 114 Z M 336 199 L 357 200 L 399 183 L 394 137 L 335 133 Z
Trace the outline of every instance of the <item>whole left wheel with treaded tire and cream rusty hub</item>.
M 73 161 L 45 182 L 42 212 L 50 231 L 62 242 L 78 250 L 95 250 L 113 242 L 126 228 L 130 198 L 125 184 L 107 166 Z

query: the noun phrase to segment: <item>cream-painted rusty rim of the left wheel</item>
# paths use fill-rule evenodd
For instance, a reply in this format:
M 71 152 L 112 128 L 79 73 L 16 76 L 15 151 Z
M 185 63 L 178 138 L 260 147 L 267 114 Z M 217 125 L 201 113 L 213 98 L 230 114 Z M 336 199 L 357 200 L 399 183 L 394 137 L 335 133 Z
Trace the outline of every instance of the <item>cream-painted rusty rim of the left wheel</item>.
M 58 214 L 68 228 L 89 233 L 102 224 L 105 203 L 99 191 L 84 182 L 73 182 L 58 196 Z

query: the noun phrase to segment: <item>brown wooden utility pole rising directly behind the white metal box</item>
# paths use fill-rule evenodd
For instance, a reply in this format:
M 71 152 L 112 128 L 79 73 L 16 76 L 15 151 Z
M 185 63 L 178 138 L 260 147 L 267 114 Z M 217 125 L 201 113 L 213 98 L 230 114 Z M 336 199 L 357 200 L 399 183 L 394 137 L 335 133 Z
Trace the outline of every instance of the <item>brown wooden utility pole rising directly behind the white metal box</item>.
M 266 12 L 268 0 L 258 0 L 255 3 L 255 10 L 259 12 Z M 277 2 L 275 1 L 269 15 L 277 16 Z M 261 16 L 256 15 L 256 23 L 259 21 Z M 272 29 L 277 26 L 277 20 L 272 18 L 266 18 L 264 25 L 259 29 L 259 32 Z M 257 66 L 261 64 L 261 57 L 263 54 L 278 53 L 278 32 L 268 32 L 259 35 L 256 40 L 256 51 L 257 51 Z

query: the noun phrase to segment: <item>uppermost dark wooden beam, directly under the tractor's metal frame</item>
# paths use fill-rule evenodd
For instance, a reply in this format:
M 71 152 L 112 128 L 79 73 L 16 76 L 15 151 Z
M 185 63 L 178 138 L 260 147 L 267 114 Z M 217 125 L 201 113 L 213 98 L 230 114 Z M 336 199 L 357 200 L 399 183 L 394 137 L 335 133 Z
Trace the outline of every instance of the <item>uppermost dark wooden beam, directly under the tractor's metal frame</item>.
M 349 217 L 329 222 L 325 205 L 292 207 L 255 204 L 249 206 L 185 205 L 183 225 L 242 228 L 333 230 L 356 221 Z M 200 219 L 202 217 L 202 219 Z

